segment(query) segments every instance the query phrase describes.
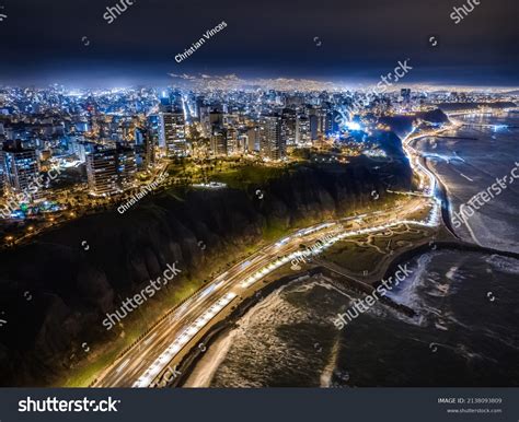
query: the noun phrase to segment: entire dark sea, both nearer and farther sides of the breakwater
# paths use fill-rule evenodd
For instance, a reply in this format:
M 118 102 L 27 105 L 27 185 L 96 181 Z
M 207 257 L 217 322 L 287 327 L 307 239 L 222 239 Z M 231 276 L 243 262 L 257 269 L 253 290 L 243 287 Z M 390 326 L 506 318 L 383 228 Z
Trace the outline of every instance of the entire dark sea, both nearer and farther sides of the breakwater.
M 432 168 L 459 204 L 515 166 L 519 116 L 466 118 L 452 138 L 423 139 Z M 507 124 L 494 130 L 475 125 Z M 466 139 L 475 138 L 475 139 Z M 457 234 L 519 250 L 518 186 L 510 185 Z M 381 303 L 344 329 L 333 320 L 359 295 L 322 276 L 291 282 L 221 335 L 186 386 L 368 387 L 518 386 L 519 260 L 437 250 L 408 262 L 413 273 L 388 295 L 417 313 Z

